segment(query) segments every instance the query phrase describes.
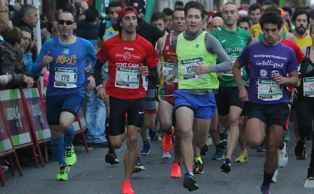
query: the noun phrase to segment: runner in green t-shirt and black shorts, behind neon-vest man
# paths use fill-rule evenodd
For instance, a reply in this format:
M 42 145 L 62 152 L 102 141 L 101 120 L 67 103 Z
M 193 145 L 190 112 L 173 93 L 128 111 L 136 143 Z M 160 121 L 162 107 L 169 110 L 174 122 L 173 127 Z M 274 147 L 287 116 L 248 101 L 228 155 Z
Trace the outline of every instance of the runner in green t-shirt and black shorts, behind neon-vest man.
M 243 49 L 251 41 L 250 33 L 237 27 L 237 19 L 239 17 L 237 10 L 235 4 L 226 3 L 222 8 L 223 27 L 211 32 L 219 40 L 232 63 L 237 60 Z M 247 73 L 244 68 L 241 75 L 243 85 L 246 86 Z M 232 72 L 224 72 L 223 76 L 218 80 L 219 88 L 215 98 L 219 120 L 225 129 L 229 129 L 227 155 L 220 169 L 222 172 L 228 173 L 231 170 L 231 157 L 238 140 L 242 152 L 234 162 L 245 163 L 248 160 L 245 138 L 245 111 L 243 111 L 244 102 L 239 99 L 239 90 L 237 83 L 234 82 Z

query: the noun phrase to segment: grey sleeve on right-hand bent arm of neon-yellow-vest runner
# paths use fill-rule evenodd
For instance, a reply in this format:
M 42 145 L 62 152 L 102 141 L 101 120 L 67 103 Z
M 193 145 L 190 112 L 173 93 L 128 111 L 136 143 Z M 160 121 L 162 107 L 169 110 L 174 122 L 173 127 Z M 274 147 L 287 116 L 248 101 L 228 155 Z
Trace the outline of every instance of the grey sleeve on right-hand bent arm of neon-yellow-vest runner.
M 205 47 L 209 53 L 217 54 L 219 61 L 221 61 L 219 64 L 210 66 L 210 72 L 226 72 L 231 70 L 232 62 L 229 56 L 222 48 L 220 42 L 209 33 L 205 36 Z

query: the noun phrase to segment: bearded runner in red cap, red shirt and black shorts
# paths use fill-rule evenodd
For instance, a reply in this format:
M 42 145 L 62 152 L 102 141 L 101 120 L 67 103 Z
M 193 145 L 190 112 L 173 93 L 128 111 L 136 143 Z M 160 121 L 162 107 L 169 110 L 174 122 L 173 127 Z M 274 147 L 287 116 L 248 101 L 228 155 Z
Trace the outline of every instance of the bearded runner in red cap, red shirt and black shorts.
M 123 8 L 119 12 L 120 33 L 105 41 L 97 53 L 98 60 L 94 70 L 98 95 L 105 99 L 108 94 L 110 98 L 109 139 L 112 147 L 120 148 L 126 136 L 123 194 L 134 193 L 130 181 L 138 155 L 137 137 L 144 122 L 146 96 L 141 75 L 156 76 L 158 63 L 158 56 L 152 45 L 136 34 L 137 17 L 137 12 L 132 7 Z M 101 67 L 106 61 L 109 64 L 109 80 L 104 88 L 101 85 Z

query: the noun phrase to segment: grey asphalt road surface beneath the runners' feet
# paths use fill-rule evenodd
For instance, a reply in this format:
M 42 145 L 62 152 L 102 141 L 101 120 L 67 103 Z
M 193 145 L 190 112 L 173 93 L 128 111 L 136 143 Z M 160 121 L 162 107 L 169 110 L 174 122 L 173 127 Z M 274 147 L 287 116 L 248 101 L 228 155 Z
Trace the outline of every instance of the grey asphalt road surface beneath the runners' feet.
M 286 167 L 279 169 L 278 182 L 271 184 L 272 194 L 286 193 L 314 193 L 314 188 L 304 187 L 309 158 L 296 160 L 293 154 L 294 138 L 287 143 L 289 162 Z M 132 186 L 136 194 L 162 194 L 162 193 L 260 193 L 263 181 L 263 162 L 265 153 L 257 153 L 249 149 L 249 161 L 245 164 L 232 163 L 231 172 L 220 172 L 222 161 L 210 160 L 214 147 L 203 157 L 205 172 L 196 175 L 200 189 L 189 192 L 183 188 L 181 178 L 170 178 L 171 163 L 173 159 L 161 159 L 161 142 L 150 142 L 151 153 L 141 156 L 146 170 L 133 175 Z M 141 147 L 141 143 L 140 147 Z M 307 148 L 311 142 L 307 142 Z M 125 145 L 117 150 L 120 161 L 123 159 Z M 240 152 L 239 147 L 235 154 Z M 308 151 L 309 152 L 309 151 Z M 57 162 L 51 156 L 44 168 L 23 166 L 23 176 L 12 177 L 6 171 L 7 185 L 0 186 L 0 193 L 6 194 L 118 194 L 121 193 L 121 180 L 123 165 L 110 165 L 105 163 L 107 149 L 92 149 L 89 154 L 77 147 L 77 163 L 71 167 L 69 180 L 59 182 L 55 180 Z M 171 152 L 174 156 L 174 153 Z M 234 158 L 236 155 L 234 155 Z M 183 165 L 181 166 L 184 173 Z M 313 182 L 308 182 L 314 187 Z

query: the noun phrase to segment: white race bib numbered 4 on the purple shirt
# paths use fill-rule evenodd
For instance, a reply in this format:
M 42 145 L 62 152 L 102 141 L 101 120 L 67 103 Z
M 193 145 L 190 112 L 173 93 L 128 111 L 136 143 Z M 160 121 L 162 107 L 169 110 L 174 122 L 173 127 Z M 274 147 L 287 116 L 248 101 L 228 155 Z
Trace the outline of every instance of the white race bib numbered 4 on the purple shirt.
M 273 101 L 280 98 L 282 98 L 282 86 L 273 80 L 258 80 L 258 99 Z

